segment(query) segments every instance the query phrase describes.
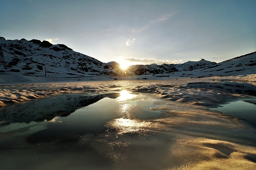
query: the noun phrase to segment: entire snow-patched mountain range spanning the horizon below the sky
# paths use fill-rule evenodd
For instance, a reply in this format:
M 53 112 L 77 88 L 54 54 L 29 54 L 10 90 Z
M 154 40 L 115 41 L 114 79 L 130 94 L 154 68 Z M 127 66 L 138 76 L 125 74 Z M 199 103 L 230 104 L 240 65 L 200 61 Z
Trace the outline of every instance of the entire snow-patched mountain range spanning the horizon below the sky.
M 8 72 L 30 76 L 173 75 L 181 72 L 182 76 L 255 74 L 255 52 L 218 64 L 202 59 L 183 64 L 132 65 L 122 70 L 120 64 L 114 61 L 102 63 L 63 44 L 52 45 L 48 41 L 36 39 L 6 40 L 0 37 L 0 45 Z M 0 66 L 0 72 L 5 72 L 3 66 Z

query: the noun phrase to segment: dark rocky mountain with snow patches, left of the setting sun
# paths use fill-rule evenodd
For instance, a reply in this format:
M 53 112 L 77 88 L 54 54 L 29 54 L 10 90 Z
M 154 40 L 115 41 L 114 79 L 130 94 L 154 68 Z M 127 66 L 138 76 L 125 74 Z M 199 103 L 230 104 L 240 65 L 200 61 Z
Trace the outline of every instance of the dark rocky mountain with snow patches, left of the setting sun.
M 43 76 L 45 72 L 48 76 L 113 74 L 114 63 L 102 63 L 63 44 L 52 45 L 36 39 L 6 40 L 4 37 L 0 37 L 0 42 L 9 72 L 34 76 Z M 0 71 L 4 71 L 2 66 Z

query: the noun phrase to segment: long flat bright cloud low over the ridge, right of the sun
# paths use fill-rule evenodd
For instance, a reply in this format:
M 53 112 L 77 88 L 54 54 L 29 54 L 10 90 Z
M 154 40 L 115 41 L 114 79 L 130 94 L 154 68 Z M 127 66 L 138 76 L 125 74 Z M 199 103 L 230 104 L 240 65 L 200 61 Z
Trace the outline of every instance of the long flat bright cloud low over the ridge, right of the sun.
M 143 59 L 138 59 L 138 58 L 132 58 L 132 59 L 125 59 L 127 61 L 131 61 L 131 62 L 134 62 L 134 63 L 138 63 L 138 64 L 158 64 L 158 65 L 161 65 L 161 64 L 178 64 L 178 63 L 181 63 L 182 60 L 173 60 L 173 61 L 170 61 L 170 60 L 157 60 L 157 59 L 154 59 L 154 58 L 143 58 Z

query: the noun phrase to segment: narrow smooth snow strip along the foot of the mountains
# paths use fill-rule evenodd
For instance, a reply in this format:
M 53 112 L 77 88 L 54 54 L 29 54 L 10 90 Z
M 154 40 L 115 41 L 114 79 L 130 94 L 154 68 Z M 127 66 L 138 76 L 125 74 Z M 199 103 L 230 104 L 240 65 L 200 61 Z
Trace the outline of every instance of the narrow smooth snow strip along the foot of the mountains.
M 73 81 L 108 81 L 108 80 L 174 80 L 174 79 L 215 79 L 256 82 L 256 74 L 234 76 L 181 76 L 181 73 L 172 76 L 164 75 L 134 75 L 134 76 L 84 76 L 84 77 L 47 77 L 47 76 L 24 76 L 18 73 L 1 73 L 1 84 L 12 83 L 35 83 L 35 82 L 73 82 Z

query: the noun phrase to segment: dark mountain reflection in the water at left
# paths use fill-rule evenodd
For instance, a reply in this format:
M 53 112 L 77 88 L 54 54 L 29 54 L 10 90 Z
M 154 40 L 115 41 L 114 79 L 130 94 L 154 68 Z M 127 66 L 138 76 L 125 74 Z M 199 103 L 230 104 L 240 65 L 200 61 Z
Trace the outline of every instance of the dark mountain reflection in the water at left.
M 0 108 L 0 125 L 15 122 L 50 121 L 56 116 L 66 117 L 75 110 L 89 106 L 103 98 L 115 99 L 118 96 L 120 96 L 119 93 L 93 96 L 87 96 L 85 94 L 62 94 L 2 107 Z

